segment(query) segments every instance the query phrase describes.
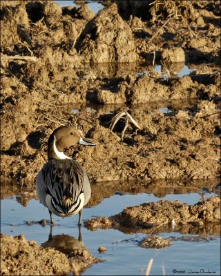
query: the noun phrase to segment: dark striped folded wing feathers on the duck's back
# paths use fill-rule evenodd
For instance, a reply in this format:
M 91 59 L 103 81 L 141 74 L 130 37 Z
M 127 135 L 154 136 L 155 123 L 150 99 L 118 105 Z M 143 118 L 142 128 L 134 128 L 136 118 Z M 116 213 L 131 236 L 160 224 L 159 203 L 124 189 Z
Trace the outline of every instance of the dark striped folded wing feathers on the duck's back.
M 77 213 L 84 206 L 84 170 L 73 159 L 52 159 L 44 166 L 46 201 L 58 213 Z

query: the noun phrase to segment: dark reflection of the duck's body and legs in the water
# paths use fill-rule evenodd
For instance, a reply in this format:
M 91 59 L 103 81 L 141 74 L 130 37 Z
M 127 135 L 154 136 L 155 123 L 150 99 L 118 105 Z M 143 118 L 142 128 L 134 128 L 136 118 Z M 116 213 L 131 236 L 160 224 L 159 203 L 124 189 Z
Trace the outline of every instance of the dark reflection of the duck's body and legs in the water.
M 82 242 L 81 226 L 79 226 L 78 239 L 64 234 L 52 236 L 52 226 L 50 226 L 48 241 L 41 244 L 41 246 L 43 246 L 44 248 L 55 248 L 56 250 L 59 250 L 60 252 L 68 255 L 70 255 L 73 250 L 86 249 L 84 243 Z

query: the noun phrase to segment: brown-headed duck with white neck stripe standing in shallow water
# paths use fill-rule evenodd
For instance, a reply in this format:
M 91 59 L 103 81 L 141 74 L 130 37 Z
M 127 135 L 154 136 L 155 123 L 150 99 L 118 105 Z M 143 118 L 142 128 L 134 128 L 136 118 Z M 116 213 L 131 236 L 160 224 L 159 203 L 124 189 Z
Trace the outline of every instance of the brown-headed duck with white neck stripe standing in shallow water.
M 82 209 L 90 199 L 88 175 L 75 159 L 64 154 L 65 148 L 76 144 L 96 146 L 73 126 L 60 126 L 48 139 L 48 161 L 37 175 L 36 190 L 39 201 L 48 208 L 50 225 L 54 224 L 52 214 L 70 217 L 79 213 L 80 226 Z

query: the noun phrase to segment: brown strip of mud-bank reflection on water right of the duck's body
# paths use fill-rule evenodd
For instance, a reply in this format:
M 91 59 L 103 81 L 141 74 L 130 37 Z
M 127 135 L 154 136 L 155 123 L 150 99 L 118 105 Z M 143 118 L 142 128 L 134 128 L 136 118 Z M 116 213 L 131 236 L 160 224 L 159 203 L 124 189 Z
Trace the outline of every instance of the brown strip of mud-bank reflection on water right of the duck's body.
M 218 179 L 160 179 L 151 182 L 142 181 L 106 181 L 91 185 L 92 194 L 87 206 L 96 206 L 104 198 L 116 194 L 137 195 L 141 193 L 152 194 L 162 198 L 166 195 L 202 193 L 215 193 Z M 105 187 L 105 189 L 104 189 Z

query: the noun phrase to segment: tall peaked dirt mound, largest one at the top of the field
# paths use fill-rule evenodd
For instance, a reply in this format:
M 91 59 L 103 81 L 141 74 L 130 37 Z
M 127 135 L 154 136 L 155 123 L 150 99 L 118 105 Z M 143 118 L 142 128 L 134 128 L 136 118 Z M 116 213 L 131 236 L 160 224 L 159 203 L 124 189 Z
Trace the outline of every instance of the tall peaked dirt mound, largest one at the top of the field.
M 128 24 L 117 12 L 115 4 L 101 10 L 88 22 L 77 49 L 85 62 L 134 62 L 135 43 Z

